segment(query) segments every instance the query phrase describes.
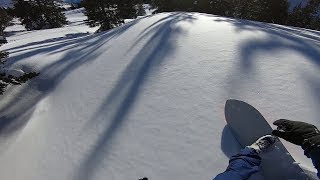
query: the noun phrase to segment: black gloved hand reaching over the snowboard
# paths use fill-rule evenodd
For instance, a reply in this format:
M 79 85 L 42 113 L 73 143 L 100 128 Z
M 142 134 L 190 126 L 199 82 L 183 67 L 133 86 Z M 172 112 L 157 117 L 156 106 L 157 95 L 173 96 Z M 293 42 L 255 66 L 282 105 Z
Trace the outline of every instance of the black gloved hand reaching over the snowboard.
M 272 131 L 273 135 L 301 146 L 307 156 L 314 147 L 320 146 L 320 132 L 312 124 L 286 119 L 279 119 L 273 124 L 278 126 Z

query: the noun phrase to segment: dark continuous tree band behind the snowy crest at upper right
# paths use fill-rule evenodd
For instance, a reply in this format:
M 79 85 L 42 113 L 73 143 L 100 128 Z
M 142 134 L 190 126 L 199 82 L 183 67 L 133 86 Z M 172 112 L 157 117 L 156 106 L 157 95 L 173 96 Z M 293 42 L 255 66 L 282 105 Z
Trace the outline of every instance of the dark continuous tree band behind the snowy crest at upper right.
M 320 0 L 150 0 L 156 12 L 189 11 L 320 30 Z

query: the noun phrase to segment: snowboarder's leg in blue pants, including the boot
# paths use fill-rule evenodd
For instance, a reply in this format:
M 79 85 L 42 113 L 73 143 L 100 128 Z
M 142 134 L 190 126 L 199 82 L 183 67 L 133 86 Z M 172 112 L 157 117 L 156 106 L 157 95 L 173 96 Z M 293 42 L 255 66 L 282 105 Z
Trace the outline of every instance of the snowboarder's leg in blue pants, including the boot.
M 261 157 L 259 153 L 271 147 L 276 140 L 277 138 L 271 135 L 259 138 L 251 146 L 245 147 L 237 155 L 232 156 L 227 170 L 214 179 L 248 179 L 260 170 Z

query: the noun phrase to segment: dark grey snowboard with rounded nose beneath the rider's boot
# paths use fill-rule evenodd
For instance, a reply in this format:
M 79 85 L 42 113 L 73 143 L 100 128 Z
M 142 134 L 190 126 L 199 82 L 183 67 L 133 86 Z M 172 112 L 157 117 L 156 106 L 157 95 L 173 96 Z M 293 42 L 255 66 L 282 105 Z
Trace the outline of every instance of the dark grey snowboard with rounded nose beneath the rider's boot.
M 261 136 L 271 134 L 272 128 L 262 114 L 248 103 L 230 99 L 225 104 L 225 118 L 232 134 L 244 148 Z M 261 153 L 261 172 L 249 179 L 317 179 L 314 172 L 302 169 L 281 141 Z

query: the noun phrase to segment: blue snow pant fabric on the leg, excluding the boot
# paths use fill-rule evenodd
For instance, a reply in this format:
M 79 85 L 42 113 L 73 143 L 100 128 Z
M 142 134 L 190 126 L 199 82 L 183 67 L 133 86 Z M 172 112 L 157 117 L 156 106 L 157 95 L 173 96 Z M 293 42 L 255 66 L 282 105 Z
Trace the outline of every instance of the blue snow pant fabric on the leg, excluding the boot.
M 252 148 L 244 148 L 229 160 L 227 170 L 214 178 L 214 180 L 248 179 L 260 170 L 261 157 Z

